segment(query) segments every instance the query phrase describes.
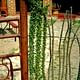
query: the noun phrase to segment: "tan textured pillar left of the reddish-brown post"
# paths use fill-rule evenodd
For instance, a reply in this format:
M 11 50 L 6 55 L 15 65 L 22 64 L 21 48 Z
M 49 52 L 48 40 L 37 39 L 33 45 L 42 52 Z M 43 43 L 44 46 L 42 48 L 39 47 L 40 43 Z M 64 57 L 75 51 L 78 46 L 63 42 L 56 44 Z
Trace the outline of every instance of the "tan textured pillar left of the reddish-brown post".
M 8 15 L 14 16 L 16 14 L 15 0 L 7 0 Z

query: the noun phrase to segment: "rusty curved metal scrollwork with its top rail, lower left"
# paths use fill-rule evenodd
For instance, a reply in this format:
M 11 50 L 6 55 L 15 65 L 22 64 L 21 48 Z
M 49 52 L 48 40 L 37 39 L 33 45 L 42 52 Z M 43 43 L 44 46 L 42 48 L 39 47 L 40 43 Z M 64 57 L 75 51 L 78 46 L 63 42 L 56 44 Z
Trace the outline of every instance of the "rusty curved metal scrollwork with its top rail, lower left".
M 7 68 L 7 74 L 6 74 L 6 76 L 5 76 L 3 79 L 1 79 L 1 80 L 6 80 L 6 79 L 8 79 L 8 78 L 10 78 L 10 80 L 13 80 L 13 72 L 14 72 L 14 71 L 19 71 L 19 70 L 21 70 L 21 68 L 16 68 L 16 69 L 13 68 L 13 63 L 12 63 L 12 61 L 11 61 L 11 57 L 17 57 L 17 56 L 20 56 L 20 54 L 19 54 L 19 53 L 16 53 L 16 54 L 0 55 L 0 59 L 2 59 L 2 60 L 1 60 L 2 63 L 0 63 L 0 65 L 5 66 L 5 67 Z M 8 62 L 5 63 L 5 62 L 4 62 L 5 59 L 8 59 L 9 63 L 8 63 Z M 8 66 L 8 64 L 9 64 L 9 66 Z

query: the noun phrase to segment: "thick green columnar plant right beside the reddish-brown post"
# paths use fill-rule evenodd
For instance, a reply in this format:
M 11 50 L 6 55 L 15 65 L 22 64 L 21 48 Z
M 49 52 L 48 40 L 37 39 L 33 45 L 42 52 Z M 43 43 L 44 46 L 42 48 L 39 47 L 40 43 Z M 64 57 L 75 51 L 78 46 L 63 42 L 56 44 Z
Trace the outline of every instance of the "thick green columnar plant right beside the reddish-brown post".
M 47 18 L 41 0 L 30 1 L 29 70 L 30 80 L 45 80 L 44 61 Z M 42 22 L 43 21 L 43 22 Z

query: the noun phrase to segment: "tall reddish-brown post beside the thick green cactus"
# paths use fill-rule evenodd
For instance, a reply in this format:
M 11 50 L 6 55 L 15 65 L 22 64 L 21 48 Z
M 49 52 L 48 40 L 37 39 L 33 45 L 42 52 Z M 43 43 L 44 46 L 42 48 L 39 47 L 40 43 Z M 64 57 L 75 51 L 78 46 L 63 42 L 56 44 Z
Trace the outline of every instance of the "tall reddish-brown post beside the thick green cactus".
M 21 80 L 28 80 L 28 23 L 25 0 L 20 0 L 20 53 Z

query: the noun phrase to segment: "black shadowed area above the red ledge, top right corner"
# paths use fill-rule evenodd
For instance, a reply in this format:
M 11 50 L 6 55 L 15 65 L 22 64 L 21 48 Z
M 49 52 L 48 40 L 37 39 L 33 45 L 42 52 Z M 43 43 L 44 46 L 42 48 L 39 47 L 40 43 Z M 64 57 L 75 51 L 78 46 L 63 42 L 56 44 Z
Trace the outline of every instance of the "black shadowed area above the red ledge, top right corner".
M 55 0 L 53 1 L 55 4 L 61 5 L 60 12 L 65 12 L 66 10 L 70 10 L 72 6 L 73 13 L 80 12 L 80 1 L 79 0 Z

